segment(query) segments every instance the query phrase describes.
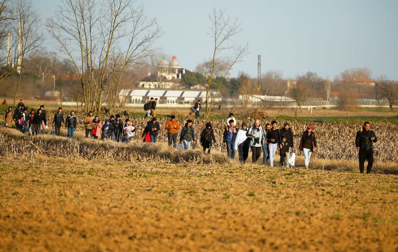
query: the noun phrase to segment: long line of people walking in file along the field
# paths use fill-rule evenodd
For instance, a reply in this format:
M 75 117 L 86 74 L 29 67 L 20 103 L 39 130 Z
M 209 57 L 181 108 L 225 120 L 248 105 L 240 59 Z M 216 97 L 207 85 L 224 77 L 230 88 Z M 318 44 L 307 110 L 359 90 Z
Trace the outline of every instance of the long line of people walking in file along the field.
M 141 140 L 144 142 L 157 142 L 158 134 L 161 126 L 154 117 L 156 109 L 156 99 L 151 98 L 147 104 L 149 108 L 146 116 L 152 116 L 151 120 L 147 122 Z M 151 107 L 148 107 L 151 106 Z M 200 101 L 192 108 L 196 116 L 200 111 Z M 197 117 L 198 118 L 198 117 Z M 11 127 L 12 123 L 15 127 L 25 133 L 27 130 L 30 134 L 41 134 L 42 131 L 48 128 L 48 121 L 44 105 L 41 105 L 37 111 L 33 108 L 30 113 L 27 113 L 27 108 L 22 103 L 18 103 L 17 108 L 13 111 L 12 106 L 9 106 L 4 113 L 4 126 Z M 83 120 L 85 127 L 85 136 L 92 138 L 110 139 L 113 141 L 129 142 L 135 136 L 136 128 L 132 125 L 129 119 L 122 122 L 120 115 L 110 116 L 102 124 L 98 116 L 94 116 L 93 112 L 89 112 Z M 62 124 L 65 125 L 68 131 L 68 137 L 74 138 L 74 132 L 78 126 L 78 120 L 75 112 L 71 111 L 68 116 L 64 116 L 62 108 L 54 114 L 52 119 L 52 128 L 55 135 L 60 134 Z M 188 119 L 183 127 L 180 126 L 175 116 L 171 116 L 167 121 L 164 129 L 167 130 L 167 139 L 169 146 L 178 147 L 189 150 L 192 145 L 196 144 L 195 129 L 193 121 Z M 179 133 L 179 131 L 181 132 Z M 180 134 L 180 135 L 179 135 Z M 237 126 L 237 121 L 233 113 L 228 115 L 226 124 L 223 129 L 223 145 L 226 147 L 228 157 L 234 159 L 236 151 L 239 155 L 239 161 L 246 163 L 249 156 L 249 149 L 251 150 L 252 162 L 255 163 L 263 154 L 263 164 L 274 166 L 276 151 L 279 151 L 280 166 L 289 167 L 294 165 L 295 146 L 294 133 L 288 122 L 285 122 L 283 127 L 278 128 L 277 122 L 274 120 L 270 124 L 265 124 L 263 127 L 260 120 L 255 120 L 254 124 L 248 126 L 246 123 L 241 123 Z M 213 144 L 216 142 L 214 129 L 210 122 L 207 122 L 202 129 L 199 137 L 203 152 L 210 153 Z M 370 173 L 373 166 L 373 143 L 377 141 L 377 136 L 374 131 L 370 130 L 370 123 L 365 122 L 362 129 L 356 134 L 355 144 L 358 150 L 360 172 L 364 172 L 364 163 L 368 161 L 367 173 Z M 310 162 L 311 154 L 317 150 L 316 136 L 311 125 L 300 135 L 298 145 L 299 152 L 304 154 L 304 165 L 307 168 Z M 293 159 L 293 164 L 292 164 Z

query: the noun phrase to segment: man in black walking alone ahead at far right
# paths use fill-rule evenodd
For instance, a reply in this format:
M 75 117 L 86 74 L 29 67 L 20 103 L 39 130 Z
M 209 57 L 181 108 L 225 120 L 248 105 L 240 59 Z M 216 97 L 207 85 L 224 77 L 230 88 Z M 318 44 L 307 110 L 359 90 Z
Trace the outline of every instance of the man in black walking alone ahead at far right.
M 373 130 L 370 130 L 370 123 L 365 122 L 362 130 L 355 136 L 355 146 L 359 151 L 359 171 L 364 173 L 365 160 L 368 161 L 366 173 L 370 173 L 373 166 L 373 143 L 377 142 L 377 136 Z

